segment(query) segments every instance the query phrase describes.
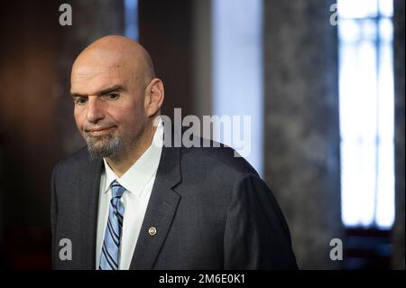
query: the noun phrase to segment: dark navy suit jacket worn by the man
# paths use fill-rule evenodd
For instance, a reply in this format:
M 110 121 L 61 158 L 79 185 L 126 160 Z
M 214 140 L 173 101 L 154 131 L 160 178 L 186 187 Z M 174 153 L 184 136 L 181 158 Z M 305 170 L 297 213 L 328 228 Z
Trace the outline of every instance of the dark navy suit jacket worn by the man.
M 52 266 L 95 269 L 102 160 L 86 147 L 51 179 Z M 156 228 L 151 236 L 149 228 Z M 60 259 L 60 239 L 71 260 Z M 134 238 L 134 241 L 137 239 Z M 130 269 L 297 269 L 272 191 L 228 147 L 163 147 Z

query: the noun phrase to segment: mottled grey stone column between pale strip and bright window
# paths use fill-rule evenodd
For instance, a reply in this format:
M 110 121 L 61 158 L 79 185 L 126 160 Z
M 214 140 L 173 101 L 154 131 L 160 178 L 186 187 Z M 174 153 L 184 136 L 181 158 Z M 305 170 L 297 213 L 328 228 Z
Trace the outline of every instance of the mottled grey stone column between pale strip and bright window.
M 340 217 L 335 1 L 264 1 L 265 179 L 303 269 L 339 268 L 329 242 Z

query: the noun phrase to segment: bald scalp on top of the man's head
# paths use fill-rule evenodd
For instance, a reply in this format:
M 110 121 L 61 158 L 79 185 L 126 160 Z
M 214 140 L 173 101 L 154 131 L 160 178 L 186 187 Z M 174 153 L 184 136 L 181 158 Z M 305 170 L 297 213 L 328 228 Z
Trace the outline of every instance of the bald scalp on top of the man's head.
M 73 63 L 72 74 L 84 67 L 104 65 L 126 70 L 143 84 L 155 78 L 152 59 L 141 44 L 119 35 L 108 35 L 92 42 Z M 79 70 L 79 71 L 78 71 Z

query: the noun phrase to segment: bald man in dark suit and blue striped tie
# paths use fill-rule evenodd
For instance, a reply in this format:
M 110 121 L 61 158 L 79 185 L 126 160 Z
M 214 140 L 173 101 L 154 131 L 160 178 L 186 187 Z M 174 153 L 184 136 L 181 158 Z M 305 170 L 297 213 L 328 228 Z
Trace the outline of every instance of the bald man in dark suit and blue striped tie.
M 281 209 L 249 163 L 224 146 L 164 146 L 164 87 L 139 43 L 91 43 L 70 94 L 87 146 L 52 172 L 54 268 L 297 268 Z

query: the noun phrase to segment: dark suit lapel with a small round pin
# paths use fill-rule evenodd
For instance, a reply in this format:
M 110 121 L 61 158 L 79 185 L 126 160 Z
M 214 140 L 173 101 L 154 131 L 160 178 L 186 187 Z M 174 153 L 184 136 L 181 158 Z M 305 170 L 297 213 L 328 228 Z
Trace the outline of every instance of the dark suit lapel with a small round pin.
M 180 148 L 163 147 L 130 269 L 153 268 L 180 201 L 180 195 L 172 190 L 179 182 Z M 151 228 L 156 229 L 156 234 Z

